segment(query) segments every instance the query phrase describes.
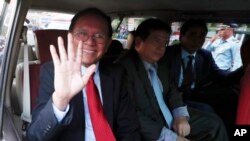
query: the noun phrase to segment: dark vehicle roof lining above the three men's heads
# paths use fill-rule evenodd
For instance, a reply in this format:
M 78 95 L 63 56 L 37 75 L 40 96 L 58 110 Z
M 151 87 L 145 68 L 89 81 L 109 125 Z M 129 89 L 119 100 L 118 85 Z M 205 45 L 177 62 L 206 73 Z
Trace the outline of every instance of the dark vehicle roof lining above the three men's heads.
M 58 4 L 60 3 L 60 4 Z M 202 18 L 208 21 L 250 22 L 248 0 L 34 0 L 31 8 L 75 13 L 98 7 L 112 17 L 155 16 L 165 20 Z M 240 16 L 239 16 L 240 15 Z

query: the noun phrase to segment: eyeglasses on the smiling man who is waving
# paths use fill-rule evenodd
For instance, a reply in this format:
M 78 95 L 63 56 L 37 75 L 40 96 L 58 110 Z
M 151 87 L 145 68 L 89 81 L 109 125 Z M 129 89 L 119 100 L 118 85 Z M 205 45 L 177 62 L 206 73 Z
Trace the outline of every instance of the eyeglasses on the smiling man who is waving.
M 74 32 L 73 35 L 75 36 L 77 40 L 81 40 L 83 42 L 87 41 L 89 37 L 91 36 L 87 31 L 84 31 L 84 30 Z M 91 38 L 98 44 L 102 44 L 106 40 L 106 36 L 102 33 L 92 34 Z

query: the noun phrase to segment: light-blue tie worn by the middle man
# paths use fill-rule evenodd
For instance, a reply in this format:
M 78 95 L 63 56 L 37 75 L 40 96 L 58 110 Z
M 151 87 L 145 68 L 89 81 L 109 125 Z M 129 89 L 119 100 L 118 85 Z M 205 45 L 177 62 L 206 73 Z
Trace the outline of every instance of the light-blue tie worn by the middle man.
M 162 90 L 160 88 L 160 83 L 158 76 L 156 74 L 156 69 L 154 66 L 151 66 L 149 68 L 149 74 L 151 77 L 151 83 L 155 92 L 156 99 L 158 101 L 158 104 L 160 106 L 161 112 L 165 118 L 165 121 L 167 122 L 167 125 L 169 128 L 172 127 L 173 117 L 171 115 L 171 112 L 169 111 L 165 101 L 163 100 Z

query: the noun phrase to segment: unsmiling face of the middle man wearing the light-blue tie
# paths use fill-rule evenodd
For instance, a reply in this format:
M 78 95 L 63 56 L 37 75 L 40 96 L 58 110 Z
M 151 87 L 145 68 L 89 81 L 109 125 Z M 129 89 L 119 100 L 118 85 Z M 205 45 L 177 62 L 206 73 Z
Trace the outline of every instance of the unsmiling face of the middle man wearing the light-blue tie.
M 161 30 L 151 31 L 145 40 L 136 38 L 135 49 L 143 60 L 155 63 L 164 55 L 168 40 L 169 33 Z

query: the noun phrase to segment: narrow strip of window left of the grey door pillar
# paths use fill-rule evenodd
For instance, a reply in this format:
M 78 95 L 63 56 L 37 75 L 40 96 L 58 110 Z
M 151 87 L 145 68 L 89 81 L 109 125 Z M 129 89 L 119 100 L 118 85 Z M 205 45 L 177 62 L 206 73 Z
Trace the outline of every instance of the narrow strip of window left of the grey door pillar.
M 9 68 L 7 68 L 7 66 L 10 66 L 7 57 L 11 48 L 9 48 L 10 46 L 8 44 L 11 40 L 10 33 L 13 31 L 11 27 L 14 24 L 16 9 L 17 0 L 0 0 L 0 138 L 3 139 L 4 136 L 4 140 L 12 140 L 16 137 L 12 132 L 5 132 L 3 134 L 3 131 L 6 131 L 6 127 L 11 129 L 11 127 L 6 124 L 6 118 L 9 119 L 9 117 L 6 117 L 4 114 L 4 112 L 6 112 L 6 110 L 4 110 L 4 100 L 7 93 L 6 91 L 8 91 L 6 79 Z

